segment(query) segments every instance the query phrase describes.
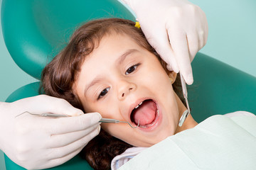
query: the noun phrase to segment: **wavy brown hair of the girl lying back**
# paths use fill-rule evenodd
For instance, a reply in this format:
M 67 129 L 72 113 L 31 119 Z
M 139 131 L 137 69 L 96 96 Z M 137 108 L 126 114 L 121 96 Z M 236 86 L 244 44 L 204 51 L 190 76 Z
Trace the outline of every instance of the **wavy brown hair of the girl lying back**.
M 121 18 L 105 18 L 89 21 L 75 30 L 68 45 L 43 69 L 41 88 L 45 94 L 64 98 L 74 107 L 80 108 L 86 113 L 78 96 L 73 91 L 73 84 L 78 77 L 85 57 L 98 47 L 103 36 L 112 33 L 128 35 L 138 45 L 154 53 L 159 58 L 166 73 L 168 73 L 166 63 L 149 45 L 142 30 L 134 25 L 133 21 Z M 180 81 L 175 81 L 173 86 L 176 94 L 182 98 Z M 100 135 L 97 135 L 82 149 L 80 156 L 86 159 L 94 169 L 110 169 L 112 159 L 118 154 L 122 154 L 129 147 L 132 147 L 132 145 L 101 130 Z

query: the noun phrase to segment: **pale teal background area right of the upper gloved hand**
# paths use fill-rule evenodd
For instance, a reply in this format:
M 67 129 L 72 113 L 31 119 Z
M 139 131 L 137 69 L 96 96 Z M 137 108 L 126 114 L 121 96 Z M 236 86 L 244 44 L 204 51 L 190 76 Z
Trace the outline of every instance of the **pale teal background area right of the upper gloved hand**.
M 200 51 L 256 77 L 256 1 L 188 0 L 206 13 L 208 41 Z

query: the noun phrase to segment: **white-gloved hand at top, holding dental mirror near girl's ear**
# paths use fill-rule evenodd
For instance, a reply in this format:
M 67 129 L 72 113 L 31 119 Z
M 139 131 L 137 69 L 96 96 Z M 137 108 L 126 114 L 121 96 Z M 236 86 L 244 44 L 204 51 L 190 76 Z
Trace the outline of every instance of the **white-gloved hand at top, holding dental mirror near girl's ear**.
M 206 45 L 206 14 L 186 0 L 122 0 L 134 13 L 149 43 L 168 64 L 193 83 L 191 62 Z

